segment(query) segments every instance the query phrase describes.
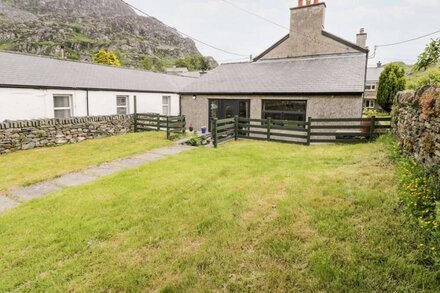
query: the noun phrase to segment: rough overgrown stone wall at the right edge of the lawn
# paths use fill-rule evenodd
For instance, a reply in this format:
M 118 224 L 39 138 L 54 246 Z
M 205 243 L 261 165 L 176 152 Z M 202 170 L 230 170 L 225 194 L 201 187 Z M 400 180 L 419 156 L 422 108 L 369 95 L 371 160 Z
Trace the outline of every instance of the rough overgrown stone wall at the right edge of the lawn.
M 400 92 L 393 116 L 393 131 L 403 149 L 424 166 L 440 166 L 440 88 Z

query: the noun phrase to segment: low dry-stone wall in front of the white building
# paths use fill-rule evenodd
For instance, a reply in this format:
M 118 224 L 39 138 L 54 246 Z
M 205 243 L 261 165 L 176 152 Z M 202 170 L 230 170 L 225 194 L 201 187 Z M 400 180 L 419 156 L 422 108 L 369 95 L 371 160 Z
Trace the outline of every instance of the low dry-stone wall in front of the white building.
M 0 124 L 0 154 L 131 132 L 132 115 L 10 121 Z

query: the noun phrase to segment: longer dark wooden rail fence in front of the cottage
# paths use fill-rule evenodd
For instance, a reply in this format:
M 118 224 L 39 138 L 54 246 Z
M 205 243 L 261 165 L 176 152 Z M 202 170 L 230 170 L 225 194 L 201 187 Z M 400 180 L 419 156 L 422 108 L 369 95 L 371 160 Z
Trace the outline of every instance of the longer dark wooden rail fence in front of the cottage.
M 310 145 L 311 143 L 361 143 L 373 140 L 391 128 L 391 117 L 336 118 L 285 121 L 274 119 L 229 118 L 212 120 L 214 147 L 244 139 Z

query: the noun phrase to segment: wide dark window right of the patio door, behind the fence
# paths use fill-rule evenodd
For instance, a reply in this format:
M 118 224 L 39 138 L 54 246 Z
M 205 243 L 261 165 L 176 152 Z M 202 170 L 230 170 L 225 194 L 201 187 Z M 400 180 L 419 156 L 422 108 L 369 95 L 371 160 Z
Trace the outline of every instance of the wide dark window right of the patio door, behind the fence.
M 263 119 L 306 121 L 307 101 L 263 101 Z

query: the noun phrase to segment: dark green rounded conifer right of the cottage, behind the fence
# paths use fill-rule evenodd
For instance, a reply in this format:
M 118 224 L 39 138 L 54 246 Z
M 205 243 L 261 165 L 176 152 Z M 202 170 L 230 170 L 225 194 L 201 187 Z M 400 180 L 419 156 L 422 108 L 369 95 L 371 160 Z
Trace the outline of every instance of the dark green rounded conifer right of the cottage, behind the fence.
M 398 64 L 388 64 L 379 78 L 377 102 L 387 112 L 391 112 L 394 97 L 406 86 L 405 69 Z

